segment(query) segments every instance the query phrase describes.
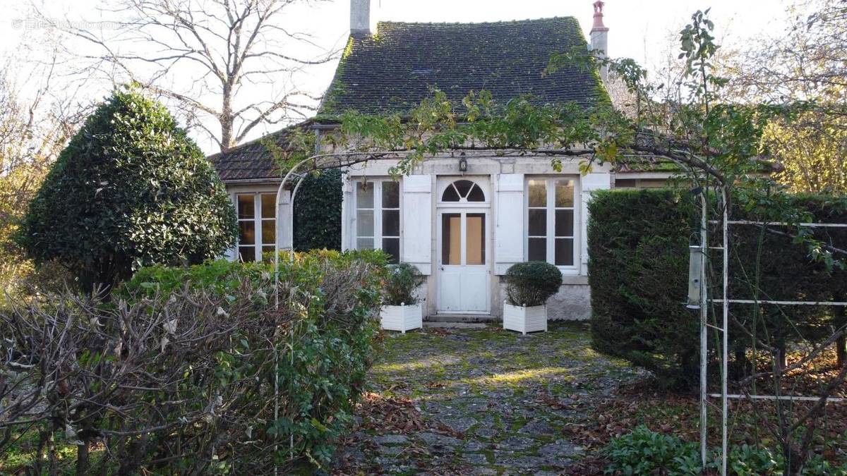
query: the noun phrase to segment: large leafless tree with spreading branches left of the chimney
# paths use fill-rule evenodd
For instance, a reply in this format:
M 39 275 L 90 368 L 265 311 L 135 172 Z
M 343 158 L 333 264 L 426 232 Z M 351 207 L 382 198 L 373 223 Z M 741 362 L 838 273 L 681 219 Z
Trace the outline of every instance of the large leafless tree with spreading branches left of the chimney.
M 66 29 L 101 50 L 84 58 L 113 80 L 169 98 L 225 152 L 257 125 L 314 110 L 318 97 L 296 84 L 298 76 L 335 54 L 285 20 L 293 8 L 325 1 L 124 0 L 103 10 L 112 29 L 72 22 Z

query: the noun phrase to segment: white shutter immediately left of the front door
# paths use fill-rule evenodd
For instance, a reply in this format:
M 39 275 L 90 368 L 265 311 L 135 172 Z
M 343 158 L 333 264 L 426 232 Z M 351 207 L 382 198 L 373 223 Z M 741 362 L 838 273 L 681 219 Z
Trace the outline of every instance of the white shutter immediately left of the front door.
M 403 177 L 400 261 L 432 274 L 432 175 Z

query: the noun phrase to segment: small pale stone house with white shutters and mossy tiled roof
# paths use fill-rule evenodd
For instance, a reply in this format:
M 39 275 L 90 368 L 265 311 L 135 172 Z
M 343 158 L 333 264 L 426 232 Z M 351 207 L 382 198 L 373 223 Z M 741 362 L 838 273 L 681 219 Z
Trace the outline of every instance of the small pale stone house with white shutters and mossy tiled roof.
M 573 47 L 606 50 L 603 2 L 595 2 L 591 44 L 572 18 L 476 24 L 381 22 L 370 29 L 369 0 L 351 2 L 351 37 L 318 116 L 348 109 L 405 112 L 435 86 L 453 100 L 488 90 L 495 100 L 531 95 L 540 102 L 590 105 L 603 93 L 606 71 L 565 68 L 542 75 L 552 53 Z M 334 125 L 309 121 L 301 127 Z M 286 131 L 272 139 L 285 141 Z M 261 259 L 274 249 L 274 198 L 280 171 L 262 141 L 211 158 L 232 194 L 241 239 L 231 257 Z M 664 183 L 667 173 L 562 171 L 548 157 L 445 153 L 392 180 L 391 161 L 346 169 L 344 249 L 381 248 L 428 276 L 426 311 L 501 315 L 501 276 L 514 263 L 541 260 L 562 270 L 550 318 L 588 318 L 587 203 L 616 186 Z M 290 193 L 290 192 L 286 192 Z M 285 198 L 287 200 L 287 198 Z M 280 228 L 280 233 L 285 232 Z

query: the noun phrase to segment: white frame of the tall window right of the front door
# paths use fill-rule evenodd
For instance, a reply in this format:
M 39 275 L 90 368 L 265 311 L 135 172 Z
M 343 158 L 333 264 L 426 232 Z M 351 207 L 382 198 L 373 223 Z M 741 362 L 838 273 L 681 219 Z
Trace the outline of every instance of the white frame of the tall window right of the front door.
M 546 212 L 546 235 L 529 235 L 529 182 L 530 180 L 544 180 L 546 187 L 547 203 L 544 207 Z M 556 207 L 556 180 L 573 181 L 573 207 Z M 562 271 L 562 274 L 579 274 L 579 177 L 570 175 L 544 176 L 527 175 L 523 184 L 523 259 L 529 260 L 529 238 L 545 238 L 546 262 L 551 263 Z M 540 210 L 541 207 L 532 207 Z M 573 264 L 556 264 L 556 210 L 573 210 L 573 235 L 559 236 L 559 238 L 571 238 L 573 240 Z

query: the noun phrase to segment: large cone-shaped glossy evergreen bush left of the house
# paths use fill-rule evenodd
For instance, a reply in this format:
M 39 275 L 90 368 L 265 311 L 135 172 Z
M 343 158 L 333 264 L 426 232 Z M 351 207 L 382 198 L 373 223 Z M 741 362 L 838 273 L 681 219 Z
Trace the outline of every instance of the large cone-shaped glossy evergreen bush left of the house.
M 201 263 L 235 240 L 212 165 L 158 102 L 117 90 L 86 120 L 30 203 L 19 242 L 36 263 L 113 285 L 154 263 Z

